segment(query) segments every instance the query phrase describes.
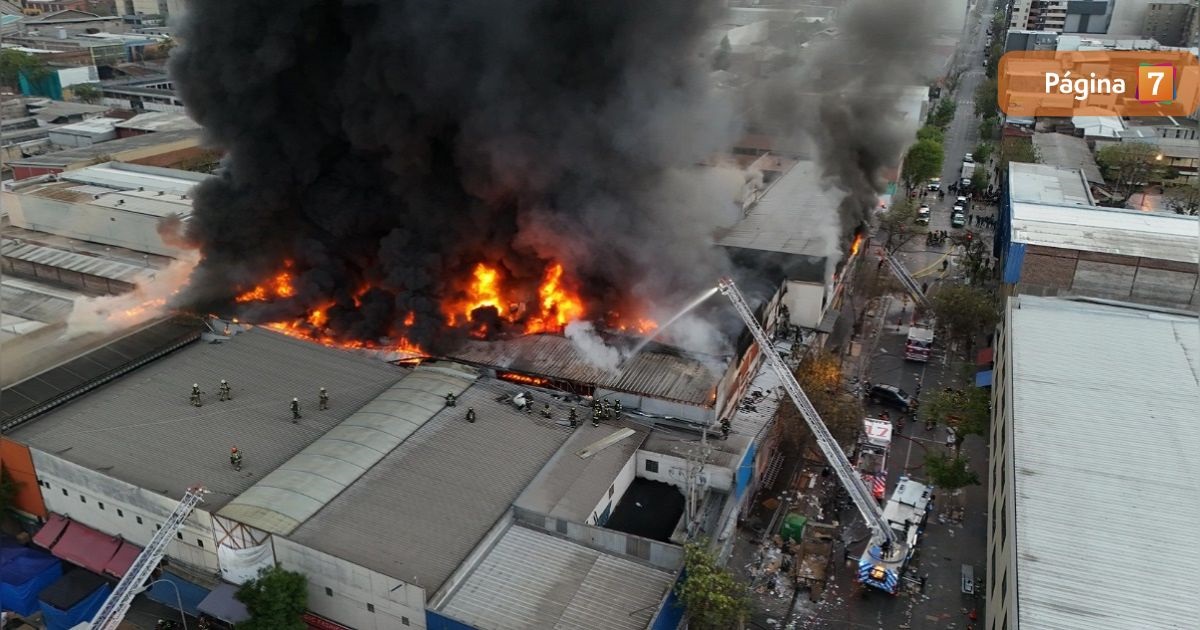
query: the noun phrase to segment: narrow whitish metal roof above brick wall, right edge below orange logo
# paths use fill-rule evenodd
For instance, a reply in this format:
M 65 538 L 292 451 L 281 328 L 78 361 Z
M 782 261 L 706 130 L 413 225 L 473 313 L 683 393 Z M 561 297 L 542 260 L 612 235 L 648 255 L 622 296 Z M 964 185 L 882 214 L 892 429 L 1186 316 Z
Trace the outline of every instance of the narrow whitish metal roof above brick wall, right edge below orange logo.
M 1200 217 L 1115 208 L 1013 204 L 1013 242 L 1196 263 Z

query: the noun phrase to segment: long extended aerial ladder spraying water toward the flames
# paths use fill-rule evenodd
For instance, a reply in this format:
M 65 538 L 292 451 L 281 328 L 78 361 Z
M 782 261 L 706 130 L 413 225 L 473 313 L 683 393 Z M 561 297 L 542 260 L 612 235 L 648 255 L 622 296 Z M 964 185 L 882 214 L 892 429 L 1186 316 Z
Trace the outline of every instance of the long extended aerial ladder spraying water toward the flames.
M 881 575 L 887 574 L 889 578 L 894 575 L 898 578 L 904 564 L 911 557 L 916 538 L 906 535 L 901 539 L 890 527 L 883 515 L 883 510 L 875 503 L 875 498 L 863 481 L 863 478 L 858 475 L 854 466 L 850 463 L 846 454 L 838 445 L 838 440 L 829 433 L 816 408 L 812 407 L 809 397 L 800 389 L 800 384 L 796 382 L 796 376 L 792 374 L 792 371 L 787 368 L 787 365 L 784 364 L 779 353 L 770 344 L 767 332 L 758 325 L 758 319 L 755 318 L 754 311 L 750 310 L 750 305 L 746 304 L 745 298 L 742 296 L 742 292 L 733 284 L 733 281 L 721 278 L 718 282 L 718 288 L 733 302 L 733 308 L 737 310 L 738 316 L 742 317 L 746 328 L 750 329 L 750 334 L 758 342 L 758 349 L 767 358 L 767 362 L 770 364 L 775 373 L 779 374 L 779 380 L 782 383 L 784 389 L 787 390 L 787 395 L 791 396 L 804 421 L 812 430 L 812 436 L 816 438 L 821 452 L 824 454 L 826 460 L 829 462 L 829 468 L 838 475 L 842 487 L 846 488 L 846 493 L 850 494 L 851 500 L 854 502 L 854 506 L 862 512 L 863 520 L 871 528 L 872 538 L 871 544 L 868 546 L 868 556 L 874 559 L 872 568 L 877 568 Z

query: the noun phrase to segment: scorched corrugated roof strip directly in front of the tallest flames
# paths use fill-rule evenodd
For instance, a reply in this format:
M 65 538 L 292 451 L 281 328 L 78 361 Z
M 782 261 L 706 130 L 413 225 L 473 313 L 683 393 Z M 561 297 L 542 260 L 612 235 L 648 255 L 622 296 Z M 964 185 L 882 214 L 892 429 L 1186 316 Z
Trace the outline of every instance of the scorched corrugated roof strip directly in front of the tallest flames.
M 720 374 L 712 365 L 682 354 L 646 349 L 617 373 L 589 365 L 565 337 L 526 335 L 511 340 L 468 341 L 450 353 L 454 360 L 498 367 L 545 378 L 595 386 L 701 407 L 713 403 Z M 712 361 L 725 359 L 710 358 Z

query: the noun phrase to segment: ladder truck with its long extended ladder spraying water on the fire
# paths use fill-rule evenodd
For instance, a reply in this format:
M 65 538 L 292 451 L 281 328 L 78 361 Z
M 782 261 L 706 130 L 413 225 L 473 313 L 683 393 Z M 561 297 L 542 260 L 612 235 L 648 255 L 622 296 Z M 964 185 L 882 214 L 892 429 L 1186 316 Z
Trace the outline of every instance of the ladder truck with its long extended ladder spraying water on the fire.
M 770 364 L 775 373 L 779 374 L 780 383 L 782 383 L 784 389 L 787 390 L 787 395 L 800 412 L 800 416 L 804 418 L 804 421 L 812 431 L 812 437 L 829 462 L 829 468 L 838 475 L 838 480 L 841 481 L 842 487 L 846 488 L 846 493 L 854 502 L 854 506 L 863 515 L 863 520 L 871 528 L 871 541 L 859 559 L 858 581 L 864 586 L 877 588 L 893 595 L 896 594 L 900 589 L 900 580 L 905 566 L 913 556 L 925 516 L 931 506 L 934 488 L 911 479 L 902 479 L 900 486 L 896 488 L 896 493 L 888 502 L 889 509 L 881 510 L 863 478 L 858 475 L 854 466 L 846 458 L 846 454 L 842 452 L 841 446 L 838 445 L 833 434 L 829 433 L 816 408 L 812 407 L 809 397 L 800 389 L 799 383 L 796 382 L 796 377 L 770 344 L 767 332 L 758 325 L 758 319 L 755 318 L 750 305 L 742 296 L 742 292 L 738 290 L 737 286 L 730 278 L 721 278 L 718 282 L 718 288 L 733 302 L 733 308 L 742 317 L 742 320 L 745 322 L 746 328 L 750 329 L 750 334 L 758 342 L 758 349 L 767 358 L 767 362 Z M 898 497 L 901 494 L 901 490 L 904 497 Z M 913 497 L 923 498 L 924 500 L 913 500 Z M 895 509 L 893 509 L 893 503 L 898 503 Z

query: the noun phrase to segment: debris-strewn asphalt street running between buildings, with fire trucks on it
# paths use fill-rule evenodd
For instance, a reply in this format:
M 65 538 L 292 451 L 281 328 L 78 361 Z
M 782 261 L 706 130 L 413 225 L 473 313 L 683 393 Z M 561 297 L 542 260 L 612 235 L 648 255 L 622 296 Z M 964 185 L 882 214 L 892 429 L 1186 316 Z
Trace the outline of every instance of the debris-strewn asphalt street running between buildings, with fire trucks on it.
M 990 5 L 990 2 L 985 4 Z M 991 8 L 974 7 L 972 23 L 961 43 L 961 76 L 955 91 L 958 109 L 954 121 L 946 133 L 946 166 L 942 181 L 948 185 L 956 181 L 961 173 L 962 155 L 974 150 L 978 143 L 978 120 L 974 116 L 974 91 L 984 79 L 983 46 L 985 32 L 991 22 Z M 954 194 L 949 191 L 946 199 L 926 197 L 932 216 L 930 230 L 944 229 L 960 232 L 950 227 L 950 208 Z M 990 239 L 988 239 L 990 241 Z M 985 241 L 986 242 L 986 241 Z M 911 272 L 923 282 L 952 282 L 956 268 L 956 253 L 949 244 L 944 246 L 925 245 L 922 238 L 910 241 L 900 252 L 899 258 Z M 941 262 L 949 259 L 947 271 L 942 271 Z M 916 391 L 918 379 L 923 391 L 934 391 L 942 386 L 962 386 L 964 370 L 961 364 L 948 361 L 941 353 L 928 364 L 910 362 L 904 359 L 904 343 L 907 334 L 907 320 L 912 306 L 901 298 L 890 302 L 887 325 L 874 348 L 874 355 L 868 370 L 868 379 L 872 383 L 890 383 L 910 394 Z M 877 412 L 878 409 L 871 408 Z M 893 415 L 895 413 L 893 412 Z M 923 462 L 926 450 L 946 449 L 946 431 L 935 427 L 926 431 L 919 422 L 906 421 L 898 432 L 888 457 L 888 493 L 895 487 L 904 474 L 924 479 Z M 854 583 L 854 568 L 858 557 L 866 545 L 869 532 L 862 517 L 853 508 L 847 508 L 841 515 L 846 528 L 844 539 L 848 542 L 846 562 L 835 571 L 829 590 L 820 602 L 809 602 L 804 593 L 797 599 L 793 616 L 790 619 L 794 628 L 830 628 L 830 629 L 965 629 L 968 624 L 984 628 L 983 599 L 961 593 L 961 569 L 971 565 L 977 578 L 986 572 L 986 472 L 988 445 L 983 438 L 970 437 L 962 445 L 964 455 L 971 458 L 972 468 L 979 474 L 982 484 L 961 491 L 958 496 L 936 493 L 935 509 L 917 557 L 911 564 L 913 575 L 926 575 L 928 582 L 923 593 L 902 593 L 892 596 L 883 592 L 862 589 Z M 961 522 L 954 522 L 952 516 L 961 514 Z M 972 622 L 965 611 L 977 610 L 978 620 Z

